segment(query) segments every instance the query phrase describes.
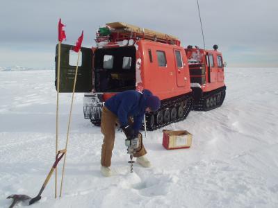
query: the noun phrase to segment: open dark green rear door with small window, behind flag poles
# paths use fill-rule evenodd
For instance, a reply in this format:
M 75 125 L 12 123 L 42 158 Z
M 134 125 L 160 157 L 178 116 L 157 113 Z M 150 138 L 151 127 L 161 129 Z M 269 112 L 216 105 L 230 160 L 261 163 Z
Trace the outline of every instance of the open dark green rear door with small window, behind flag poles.
M 77 55 L 72 51 L 74 46 L 61 44 L 60 46 L 60 89 L 59 92 L 72 92 L 74 86 L 74 77 L 76 72 Z M 79 67 L 76 78 L 75 92 L 92 92 L 92 49 L 81 47 Z M 56 45 L 56 70 L 55 86 L 57 90 L 58 80 L 58 44 Z

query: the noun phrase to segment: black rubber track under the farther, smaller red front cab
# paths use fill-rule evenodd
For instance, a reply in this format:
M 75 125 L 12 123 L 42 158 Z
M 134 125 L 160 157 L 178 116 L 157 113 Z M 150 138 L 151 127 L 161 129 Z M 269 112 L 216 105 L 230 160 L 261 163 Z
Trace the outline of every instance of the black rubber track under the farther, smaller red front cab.
M 206 99 L 211 98 L 218 93 L 220 93 L 220 102 L 218 102 L 217 105 L 214 105 L 212 107 L 206 107 Z M 216 107 L 220 107 L 224 102 L 225 96 L 226 96 L 226 86 L 208 92 L 204 94 L 204 96 L 202 96 L 202 98 L 200 98 L 199 101 L 195 101 L 195 103 L 193 104 L 193 110 L 208 111 L 208 110 L 213 110 Z

